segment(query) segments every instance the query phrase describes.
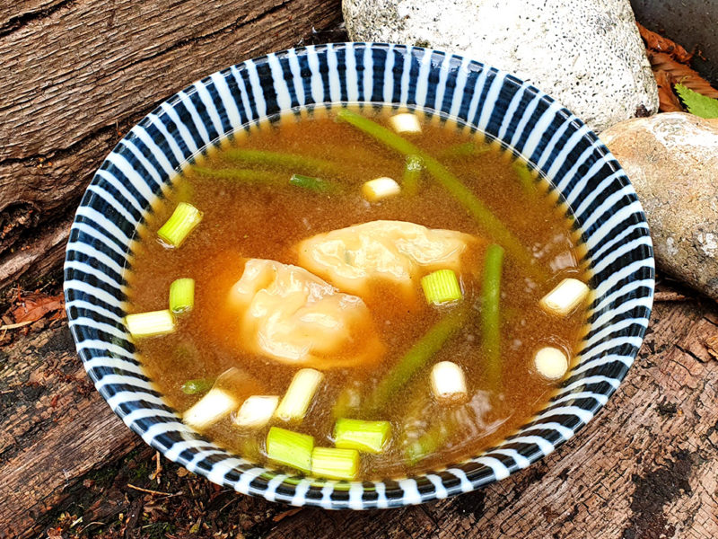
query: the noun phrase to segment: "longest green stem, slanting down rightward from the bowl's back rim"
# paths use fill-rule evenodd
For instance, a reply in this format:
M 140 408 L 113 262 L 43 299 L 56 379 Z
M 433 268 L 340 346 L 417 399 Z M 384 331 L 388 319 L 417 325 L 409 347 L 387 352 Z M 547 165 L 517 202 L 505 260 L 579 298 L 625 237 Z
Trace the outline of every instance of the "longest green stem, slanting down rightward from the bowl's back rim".
M 375 138 L 384 146 L 397 151 L 403 155 L 418 155 L 424 162 L 426 171 L 433 175 L 442 187 L 449 191 L 451 196 L 460 202 L 464 208 L 468 209 L 469 214 L 479 226 L 492 238 L 496 243 L 500 243 L 511 253 L 512 257 L 521 261 L 525 266 L 525 270 L 534 277 L 543 277 L 543 271 L 540 270 L 533 259 L 533 255 L 519 241 L 519 239 L 506 228 L 489 208 L 477 196 L 468 190 L 468 188 L 454 176 L 442 163 L 439 163 L 432 156 L 425 154 L 418 146 L 412 144 L 407 139 L 399 137 L 396 133 L 392 133 L 389 129 L 380 126 L 371 119 L 364 118 L 353 110 L 342 109 L 337 112 L 337 119 L 346 121 L 348 124 L 363 131 L 370 137 Z

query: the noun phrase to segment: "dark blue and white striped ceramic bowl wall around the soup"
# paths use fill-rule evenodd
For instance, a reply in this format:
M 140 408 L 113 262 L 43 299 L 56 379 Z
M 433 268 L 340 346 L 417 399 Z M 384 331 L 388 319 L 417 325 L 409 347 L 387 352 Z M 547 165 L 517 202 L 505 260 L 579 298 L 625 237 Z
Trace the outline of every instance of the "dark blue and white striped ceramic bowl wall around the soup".
M 337 102 L 390 103 L 454 117 L 522 155 L 552 182 L 581 227 L 582 263 L 595 290 L 575 367 L 542 411 L 481 455 L 403 479 L 315 480 L 225 452 L 162 401 L 122 323 L 122 271 L 136 228 L 180 164 L 258 119 Z M 651 312 L 653 275 L 648 225 L 626 174 L 598 137 L 546 93 L 438 50 L 339 43 L 285 50 L 209 75 L 130 129 L 96 172 L 74 217 L 65 297 L 77 352 L 95 387 L 166 458 L 244 494 L 296 506 L 367 509 L 478 489 L 573 437 L 635 359 Z

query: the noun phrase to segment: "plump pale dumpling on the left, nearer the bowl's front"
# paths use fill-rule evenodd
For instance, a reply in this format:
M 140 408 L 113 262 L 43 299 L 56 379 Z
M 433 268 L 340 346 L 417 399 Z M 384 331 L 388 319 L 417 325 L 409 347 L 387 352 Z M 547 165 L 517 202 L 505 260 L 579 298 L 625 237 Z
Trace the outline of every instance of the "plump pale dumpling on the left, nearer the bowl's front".
M 360 297 L 297 266 L 250 259 L 229 301 L 241 316 L 242 345 L 282 363 L 355 367 L 383 351 Z

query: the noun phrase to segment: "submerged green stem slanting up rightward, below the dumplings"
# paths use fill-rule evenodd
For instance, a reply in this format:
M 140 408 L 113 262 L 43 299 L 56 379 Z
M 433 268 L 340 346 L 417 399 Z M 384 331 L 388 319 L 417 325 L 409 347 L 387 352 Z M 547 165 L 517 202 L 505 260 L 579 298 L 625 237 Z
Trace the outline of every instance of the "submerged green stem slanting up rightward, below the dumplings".
M 452 311 L 416 341 L 369 395 L 363 406 L 365 416 L 381 410 L 416 371 L 424 367 L 425 363 L 442 349 L 444 343 L 463 325 L 466 313 L 466 309 Z

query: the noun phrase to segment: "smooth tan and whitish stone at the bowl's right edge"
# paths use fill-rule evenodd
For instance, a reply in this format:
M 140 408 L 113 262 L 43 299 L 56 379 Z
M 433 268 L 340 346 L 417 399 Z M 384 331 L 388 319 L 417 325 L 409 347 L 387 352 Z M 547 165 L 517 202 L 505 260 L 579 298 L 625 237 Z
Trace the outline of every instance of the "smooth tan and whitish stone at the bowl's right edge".
M 718 119 L 628 119 L 601 134 L 635 187 L 661 270 L 718 300 Z

